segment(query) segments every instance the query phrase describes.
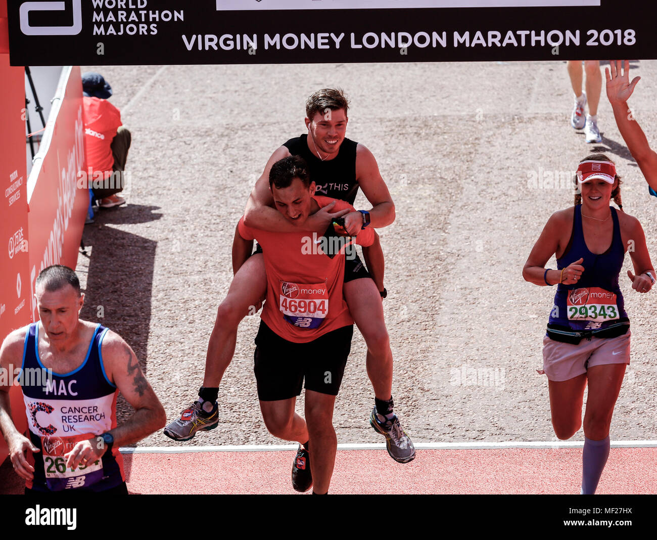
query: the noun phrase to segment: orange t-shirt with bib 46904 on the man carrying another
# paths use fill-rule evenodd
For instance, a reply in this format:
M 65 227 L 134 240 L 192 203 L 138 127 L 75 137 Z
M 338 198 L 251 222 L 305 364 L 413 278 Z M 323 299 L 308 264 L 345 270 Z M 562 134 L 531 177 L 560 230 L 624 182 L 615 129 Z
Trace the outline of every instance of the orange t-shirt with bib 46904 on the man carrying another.
M 319 207 L 334 199 L 313 196 Z M 336 200 L 332 212 L 353 206 Z M 260 315 L 265 324 L 284 340 L 311 342 L 327 332 L 353 325 L 342 296 L 345 244 L 349 238 L 325 238 L 317 233 L 273 233 L 252 229 L 240 219 L 238 230 L 244 240 L 258 240 L 267 272 L 267 296 Z M 374 230 L 367 227 L 353 238 L 356 244 L 371 246 Z M 339 252 L 338 252 L 339 250 Z M 349 251 L 355 253 L 355 247 Z M 330 258 L 326 252 L 336 253 Z

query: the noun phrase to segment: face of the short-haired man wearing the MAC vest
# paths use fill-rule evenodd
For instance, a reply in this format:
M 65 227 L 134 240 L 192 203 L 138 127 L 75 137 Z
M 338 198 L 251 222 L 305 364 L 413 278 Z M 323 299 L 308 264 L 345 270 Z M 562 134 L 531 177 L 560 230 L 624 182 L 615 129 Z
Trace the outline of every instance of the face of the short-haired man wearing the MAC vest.
M 41 325 L 51 341 L 65 342 L 78 327 L 79 311 L 84 304 L 84 295 L 70 284 L 57 290 L 46 290 L 43 284 L 37 285 L 34 296 L 37 299 Z

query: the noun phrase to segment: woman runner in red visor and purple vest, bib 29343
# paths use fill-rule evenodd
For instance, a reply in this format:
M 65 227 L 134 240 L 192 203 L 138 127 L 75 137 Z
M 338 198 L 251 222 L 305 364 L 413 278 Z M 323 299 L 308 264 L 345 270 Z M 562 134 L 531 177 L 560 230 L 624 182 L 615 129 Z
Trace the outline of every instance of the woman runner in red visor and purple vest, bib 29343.
M 536 285 L 557 285 L 539 372 L 547 374 L 559 439 L 570 439 L 579 430 L 589 385 L 581 493 L 593 494 L 609 455 L 609 426 L 629 364 L 629 319 L 618 285 L 629 246 L 632 288 L 648 292 L 655 273 L 639 220 L 609 206 L 613 198 L 623 208 L 614 163 L 604 154 L 587 156 L 575 182 L 575 206 L 551 215 L 522 277 Z M 556 269 L 545 268 L 553 255 Z

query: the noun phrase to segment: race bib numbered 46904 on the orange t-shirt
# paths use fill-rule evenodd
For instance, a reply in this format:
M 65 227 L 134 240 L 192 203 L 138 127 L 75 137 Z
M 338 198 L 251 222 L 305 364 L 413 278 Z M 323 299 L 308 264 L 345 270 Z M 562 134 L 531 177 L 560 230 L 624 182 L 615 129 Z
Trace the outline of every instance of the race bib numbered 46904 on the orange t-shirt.
M 279 309 L 290 325 L 317 328 L 328 315 L 328 287 L 323 283 L 281 281 Z

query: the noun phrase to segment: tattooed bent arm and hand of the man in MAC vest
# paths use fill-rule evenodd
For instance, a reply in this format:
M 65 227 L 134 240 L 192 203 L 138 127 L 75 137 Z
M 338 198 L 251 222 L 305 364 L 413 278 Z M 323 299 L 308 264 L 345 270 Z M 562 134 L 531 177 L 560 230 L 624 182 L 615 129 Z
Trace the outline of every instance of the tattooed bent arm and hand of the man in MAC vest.
M 164 428 L 166 413 L 148 384 L 133 350 L 115 332 L 109 330 L 102 340 L 102 359 L 108 379 L 116 384 L 135 412 L 123 424 L 110 430 L 114 447 L 135 443 Z M 66 466 L 77 467 L 81 461 L 102 457 L 106 447 L 98 437 L 80 441 L 66 454 Z

